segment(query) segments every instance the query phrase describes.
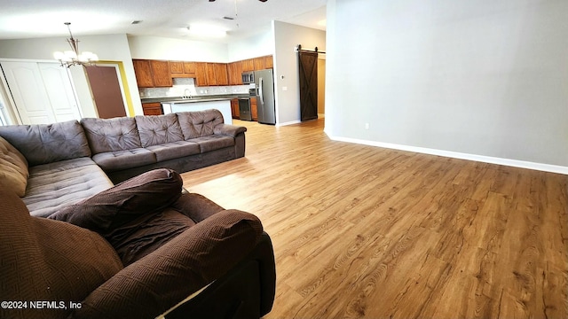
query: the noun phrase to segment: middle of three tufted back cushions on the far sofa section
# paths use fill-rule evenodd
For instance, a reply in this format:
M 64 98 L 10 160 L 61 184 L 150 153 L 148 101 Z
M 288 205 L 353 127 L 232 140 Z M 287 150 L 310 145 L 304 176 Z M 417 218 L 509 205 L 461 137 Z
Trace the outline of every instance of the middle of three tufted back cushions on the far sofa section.
M 177 122 L 177 116 L 174 113 L 158 116 L 138 115 L 134 119 L 142 147 L 184 140 L 179 122 Z

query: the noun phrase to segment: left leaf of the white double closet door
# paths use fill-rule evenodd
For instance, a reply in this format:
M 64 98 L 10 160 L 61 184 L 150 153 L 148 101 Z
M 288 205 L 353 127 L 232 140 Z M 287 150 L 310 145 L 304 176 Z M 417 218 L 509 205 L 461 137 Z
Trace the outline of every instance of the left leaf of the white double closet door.
M 22 124 L 55 122 L 36 62 L 2 62 L 2 70 Z

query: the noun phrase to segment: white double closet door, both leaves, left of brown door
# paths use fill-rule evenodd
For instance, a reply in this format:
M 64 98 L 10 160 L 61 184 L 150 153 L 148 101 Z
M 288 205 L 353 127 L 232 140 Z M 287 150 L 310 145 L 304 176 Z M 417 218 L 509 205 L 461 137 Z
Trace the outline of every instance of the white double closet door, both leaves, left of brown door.
M 21 124 L 79 120 L 81 114 L 64 67 L 57 63 L 2 62 Z

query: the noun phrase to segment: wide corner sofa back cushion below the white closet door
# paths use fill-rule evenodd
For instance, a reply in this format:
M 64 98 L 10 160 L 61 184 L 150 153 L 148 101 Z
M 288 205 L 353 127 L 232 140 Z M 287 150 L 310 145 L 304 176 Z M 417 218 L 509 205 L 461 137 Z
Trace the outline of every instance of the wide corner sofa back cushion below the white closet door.
M 0 127 L 0 136 L 18 149 L 29 166 L 91 156 L 78 121 Z

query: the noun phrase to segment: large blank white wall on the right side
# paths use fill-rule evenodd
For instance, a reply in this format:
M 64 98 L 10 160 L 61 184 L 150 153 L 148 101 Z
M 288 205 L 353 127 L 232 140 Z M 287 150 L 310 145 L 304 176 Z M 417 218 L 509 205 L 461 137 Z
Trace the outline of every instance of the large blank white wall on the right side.
M 566 17 L 567 1 L 329 0 L 326 132 L 563 170 Z

